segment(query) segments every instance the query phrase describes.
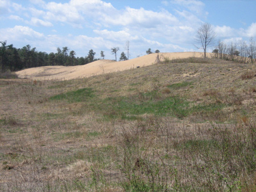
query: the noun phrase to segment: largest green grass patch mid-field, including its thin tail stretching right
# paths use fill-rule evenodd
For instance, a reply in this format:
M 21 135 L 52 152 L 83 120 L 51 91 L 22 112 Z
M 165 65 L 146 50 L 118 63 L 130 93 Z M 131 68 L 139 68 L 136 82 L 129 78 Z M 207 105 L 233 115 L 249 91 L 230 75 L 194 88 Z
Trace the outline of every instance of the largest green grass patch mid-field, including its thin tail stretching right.
M 116 97 L 107 98 L 98 103 L 99 111 L 105 111 L 104 116 L 108 119 L 136 120 L 143 114 L 154 114 L 156 116 L 171 115 L 183 119 L 191 114 L 207 112 L 212 114 L 221 111 L 226 105 L 194 105 L 185 98 L 177 96 L 154 99 L 155 93 L 144 94 L 143 100 L 137 97 Z M 192 104 L 192 105 L 191 105 Z

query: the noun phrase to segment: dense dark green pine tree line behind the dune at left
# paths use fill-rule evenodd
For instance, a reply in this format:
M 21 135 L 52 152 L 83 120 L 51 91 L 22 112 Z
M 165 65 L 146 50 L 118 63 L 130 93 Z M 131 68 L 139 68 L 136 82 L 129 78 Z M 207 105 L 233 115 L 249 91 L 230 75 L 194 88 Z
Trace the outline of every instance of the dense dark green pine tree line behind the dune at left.
M 62 49 L 57 48 L 56 53 L 46 53 L 36 51 L 36 48 L 31 48 L 26 45 L 23 48 L 15 48 L 13 44 L 7 45 L 6 41 L 0 41 L 0 71 L 16 71 L 26 68 L 34 68 L 37 66 L 52 66 L 52 65 L 85 65 L 89 62 L 96 61 L 94 56 L 96 52 L 90 49 L 85 57 L 76 57 L 75 51 L 69 51 L 68 47 Z M 101 52 L 101 56 L 105 56 Z

